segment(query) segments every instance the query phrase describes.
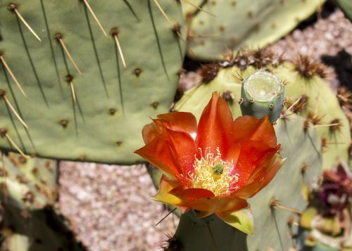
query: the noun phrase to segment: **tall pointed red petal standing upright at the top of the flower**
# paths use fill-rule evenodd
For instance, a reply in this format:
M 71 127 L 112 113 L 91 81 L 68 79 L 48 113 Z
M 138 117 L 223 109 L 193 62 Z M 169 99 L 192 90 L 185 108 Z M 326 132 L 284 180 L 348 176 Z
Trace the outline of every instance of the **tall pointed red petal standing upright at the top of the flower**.
M 233 137 L 232 122 L 229 105 L 218 92 L 213 93 L 199 120 L 196 143 L 202 153 L 216 155 L 219 148 L 222 155 L 227 155 Z

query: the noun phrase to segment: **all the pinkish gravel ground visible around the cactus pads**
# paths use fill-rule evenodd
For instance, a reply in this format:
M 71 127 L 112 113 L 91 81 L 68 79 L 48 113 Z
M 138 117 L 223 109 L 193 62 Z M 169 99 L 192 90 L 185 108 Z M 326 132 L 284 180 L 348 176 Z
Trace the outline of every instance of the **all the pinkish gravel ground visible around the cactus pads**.
M 342 82 L 351 88 L 351 38 L 351 22 L 334 11 L 270 47 L 286 58 L 304 53 L 322 60 L 335 72 L 333 86 Z M 156 190 L 143 165 L 62 162 L 60 185 L 63 214 L 89 250 L 158 250 L 165 233 L 175 231 L 172 216 L 154 226 L 168 211 L 151 200 Z

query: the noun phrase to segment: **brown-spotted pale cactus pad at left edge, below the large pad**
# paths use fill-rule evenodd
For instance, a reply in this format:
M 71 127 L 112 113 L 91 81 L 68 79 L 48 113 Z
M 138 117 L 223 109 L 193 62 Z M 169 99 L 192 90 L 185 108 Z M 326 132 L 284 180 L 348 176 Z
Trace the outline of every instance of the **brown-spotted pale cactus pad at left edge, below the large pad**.
M 54 160 L 25 159 L 10 153 L 0 157 L 0 200 L 22 210 L 54 205 L 58 188 Z

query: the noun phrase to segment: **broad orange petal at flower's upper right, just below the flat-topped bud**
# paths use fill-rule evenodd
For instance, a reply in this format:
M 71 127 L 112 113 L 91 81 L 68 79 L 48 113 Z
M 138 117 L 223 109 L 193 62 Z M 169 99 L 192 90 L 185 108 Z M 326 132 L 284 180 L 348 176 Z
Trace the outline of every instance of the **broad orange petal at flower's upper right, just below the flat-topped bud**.
M 261 141 L 270 147 L 277 145 L 275 130 L 268 115 L 262 119 L 253 116 L 241 116 L 234 120 L 234 141 Z

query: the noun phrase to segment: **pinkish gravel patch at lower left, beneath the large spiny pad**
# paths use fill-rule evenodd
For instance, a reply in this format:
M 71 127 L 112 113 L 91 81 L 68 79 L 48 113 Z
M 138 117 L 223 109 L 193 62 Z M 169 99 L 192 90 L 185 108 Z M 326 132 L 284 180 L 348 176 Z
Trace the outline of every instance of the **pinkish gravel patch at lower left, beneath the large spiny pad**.
M 89 250 L 157 250 L 177 217 L 151 200 L 153 187 L 144 165 L 116 166 L 61 162 L 60 204 Z

